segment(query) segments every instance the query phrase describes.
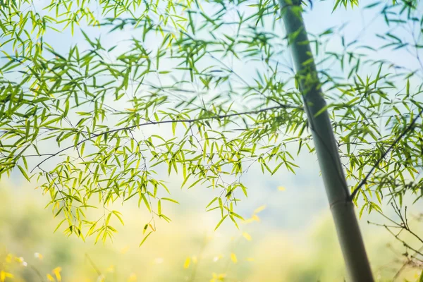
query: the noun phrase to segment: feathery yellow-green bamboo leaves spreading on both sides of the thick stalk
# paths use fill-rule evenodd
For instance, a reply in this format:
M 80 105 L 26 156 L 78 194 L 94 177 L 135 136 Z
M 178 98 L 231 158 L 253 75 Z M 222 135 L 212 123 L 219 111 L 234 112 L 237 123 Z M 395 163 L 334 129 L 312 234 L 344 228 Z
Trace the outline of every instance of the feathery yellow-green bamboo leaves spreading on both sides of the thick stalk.
M 170 221 L 166 206 L 176 200 L 164 173 L 178 173 L 185 188 L 214 189 L 207 209 L 221 214 L 216 227 L 237 225 L 251 166 L 295 173 L 291 148 L 314 153 L 276 1 L 39 5 L 1 4 L 0 176 L 37 181 L 67 234 L 111 238 L 111 219 L 123 222 L 108 209 L 116 201 L 151 213 L 146 235 L 154 220 Z M 336 1 L 333 13 L 351 5 Z M 372 56 L 406 50 L 420 62 L 421 10 L 417 1 L 361 8 L 387 26 L 415 28 L 375 35 L 381 47 L 348 41 L 343 27 L 309 35 L 348 189 L 360 186 L 360 214 L 381 211 L 383 197 L 423 196 L 422 122 L 412 123 L 422 114 L 422 68 Z M 55 42 L 57 32 L 85 42 Z M 86 215 L 97 206 L 101 219 Z

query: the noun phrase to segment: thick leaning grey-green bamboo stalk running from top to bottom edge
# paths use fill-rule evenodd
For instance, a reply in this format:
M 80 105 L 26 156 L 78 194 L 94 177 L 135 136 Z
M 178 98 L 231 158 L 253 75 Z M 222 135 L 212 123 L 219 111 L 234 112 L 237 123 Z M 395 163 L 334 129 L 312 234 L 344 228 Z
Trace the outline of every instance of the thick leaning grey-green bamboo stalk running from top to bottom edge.
M 348 278 L 350 281 L 372 282 L 372 271 L 325 109 L 300 1 L 279 0 L 279 4 Z

